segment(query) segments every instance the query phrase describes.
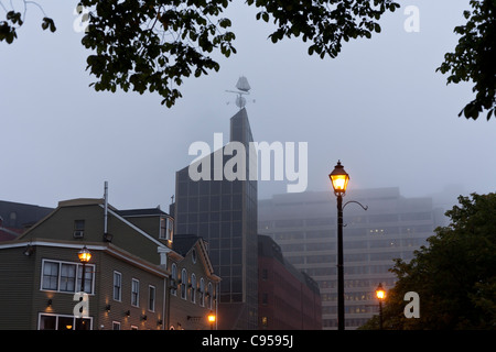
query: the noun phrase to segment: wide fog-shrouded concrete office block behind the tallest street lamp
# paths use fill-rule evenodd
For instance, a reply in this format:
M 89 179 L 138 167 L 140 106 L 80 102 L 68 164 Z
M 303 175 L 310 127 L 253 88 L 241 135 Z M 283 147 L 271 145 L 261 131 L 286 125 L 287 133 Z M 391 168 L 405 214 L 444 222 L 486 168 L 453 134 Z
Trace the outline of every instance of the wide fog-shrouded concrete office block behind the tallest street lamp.
M 405 198 L 399 188 L 348 190 L 344 209 L 345 327 L 378 314 L 375 289 L 395 284 L 393 258 L 413 251 L 442 226 L 431 198 Z M 259 233 L 280 244 L 284 257 L 320 286 L 324 329 L 337 328 L 337 210 L 333 191 L 274 195 L 259 201 Z

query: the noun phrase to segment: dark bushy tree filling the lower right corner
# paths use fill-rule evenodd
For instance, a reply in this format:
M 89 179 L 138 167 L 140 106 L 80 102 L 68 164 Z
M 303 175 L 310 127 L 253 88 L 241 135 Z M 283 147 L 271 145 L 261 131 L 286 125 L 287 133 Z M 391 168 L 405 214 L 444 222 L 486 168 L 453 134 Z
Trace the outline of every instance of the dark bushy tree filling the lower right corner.
M 496 329 L 496 194 L 459 197 L 429 246 L 410 263 L 396 260 L 398 277 L 384 308 L 385 329 Z M 420 296 L 420 318 L 407 319 L 407 292 Z M 378 318 L 363 329 L 377 329 Z

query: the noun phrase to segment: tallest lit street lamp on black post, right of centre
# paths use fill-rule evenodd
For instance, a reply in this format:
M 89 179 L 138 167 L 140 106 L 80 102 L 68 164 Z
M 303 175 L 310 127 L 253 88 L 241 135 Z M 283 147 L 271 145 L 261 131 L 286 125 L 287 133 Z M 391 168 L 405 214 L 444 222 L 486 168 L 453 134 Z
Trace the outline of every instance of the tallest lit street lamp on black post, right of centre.
M 328 174 L 337 197 L 337 330 L 344 330 L 344 271 L 343 271 L 343 196 L 346 194 L 349 175 L 341 161 Z

